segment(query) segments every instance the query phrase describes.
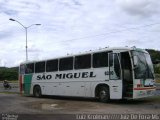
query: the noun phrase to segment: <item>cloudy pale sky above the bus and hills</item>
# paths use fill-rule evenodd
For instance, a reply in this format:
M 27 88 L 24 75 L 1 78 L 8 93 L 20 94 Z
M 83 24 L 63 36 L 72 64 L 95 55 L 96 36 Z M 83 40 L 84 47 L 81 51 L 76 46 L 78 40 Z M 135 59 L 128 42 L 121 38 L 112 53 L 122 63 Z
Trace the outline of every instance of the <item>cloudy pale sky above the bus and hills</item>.
M 160 0 L 0 0 L 0 66 L 105 47 L 160 50 Z M 20 22 L 10 21 L 15 19 Z

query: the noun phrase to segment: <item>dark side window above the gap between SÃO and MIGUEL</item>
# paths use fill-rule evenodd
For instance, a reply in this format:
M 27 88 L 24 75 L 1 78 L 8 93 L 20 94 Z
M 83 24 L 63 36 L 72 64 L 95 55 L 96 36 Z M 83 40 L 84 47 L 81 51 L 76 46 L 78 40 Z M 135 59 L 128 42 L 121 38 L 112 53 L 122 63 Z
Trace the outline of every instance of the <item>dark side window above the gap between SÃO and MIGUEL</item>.
M 46 62 L 46 72 L 58 71 L 58 60 L 49 60 Z

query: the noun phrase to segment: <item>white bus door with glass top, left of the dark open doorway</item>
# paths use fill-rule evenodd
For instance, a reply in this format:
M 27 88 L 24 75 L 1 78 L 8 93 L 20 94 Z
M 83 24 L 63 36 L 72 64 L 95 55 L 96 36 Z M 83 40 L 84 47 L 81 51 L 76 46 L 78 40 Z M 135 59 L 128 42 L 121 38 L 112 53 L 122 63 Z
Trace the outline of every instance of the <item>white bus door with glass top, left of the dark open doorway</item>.
M 110 98 L 122 98 L 122 79 L 119 55 L 109 53 Z

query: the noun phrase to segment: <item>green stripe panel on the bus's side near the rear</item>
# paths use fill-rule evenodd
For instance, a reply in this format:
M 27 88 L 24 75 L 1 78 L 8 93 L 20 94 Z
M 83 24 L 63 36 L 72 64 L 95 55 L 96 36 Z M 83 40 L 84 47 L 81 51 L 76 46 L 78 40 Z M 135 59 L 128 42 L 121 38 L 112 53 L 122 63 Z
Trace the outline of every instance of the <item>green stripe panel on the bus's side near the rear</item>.
M 32 82 L 32 74 L 24 75 L 24 94 L 29 95 Z

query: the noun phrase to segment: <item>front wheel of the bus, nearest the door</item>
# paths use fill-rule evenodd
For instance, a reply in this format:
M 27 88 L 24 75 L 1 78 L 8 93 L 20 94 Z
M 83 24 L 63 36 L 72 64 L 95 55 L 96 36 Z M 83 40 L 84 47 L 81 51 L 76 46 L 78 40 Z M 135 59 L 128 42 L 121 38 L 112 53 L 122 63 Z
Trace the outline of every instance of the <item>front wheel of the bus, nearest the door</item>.
M 99 89 L 99 101 L 100 102 L 108 102 L 110 99 L 110 95 L 109 95 L 109 88 L 102 86 Z

